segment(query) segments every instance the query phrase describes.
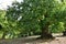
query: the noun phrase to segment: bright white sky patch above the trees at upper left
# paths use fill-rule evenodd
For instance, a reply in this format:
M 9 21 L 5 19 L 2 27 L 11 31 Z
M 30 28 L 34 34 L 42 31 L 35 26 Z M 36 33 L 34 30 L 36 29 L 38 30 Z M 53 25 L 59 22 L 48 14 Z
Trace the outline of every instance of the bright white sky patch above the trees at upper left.
M 11 6 L 13 1 L 15 0 L 0 0 L 0 9 L 7 9 L 7 6 Z M 16 1 L 21 2 L 22 0 Z

